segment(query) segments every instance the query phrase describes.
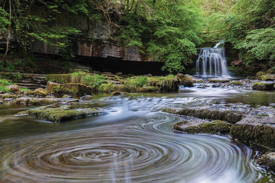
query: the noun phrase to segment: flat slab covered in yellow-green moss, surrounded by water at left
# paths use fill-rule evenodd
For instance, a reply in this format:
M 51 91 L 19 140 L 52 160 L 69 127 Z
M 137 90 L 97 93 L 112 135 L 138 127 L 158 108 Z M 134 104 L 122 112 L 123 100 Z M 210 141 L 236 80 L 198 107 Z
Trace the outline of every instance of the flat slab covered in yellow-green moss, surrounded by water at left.
M 86 116 L 100 114 L 105 112 L 102 108 L 82 108 L 70 109 L 70 106 L 63 105 L 56 106 L 43 106 L 36 109 L 29 109 L 28 114 L 40 119 L 48 120 L 54 123 L 72 120 L 75 118 L 84 118 Z

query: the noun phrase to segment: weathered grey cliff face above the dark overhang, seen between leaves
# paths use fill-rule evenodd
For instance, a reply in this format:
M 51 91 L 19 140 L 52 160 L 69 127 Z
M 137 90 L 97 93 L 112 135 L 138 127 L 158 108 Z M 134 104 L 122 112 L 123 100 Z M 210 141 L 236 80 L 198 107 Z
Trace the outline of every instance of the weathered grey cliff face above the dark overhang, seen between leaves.
M 61 13 L 52 15 L 49 11 L 45 11 L 43 6 L 33 6 L 31 15 L 38 15 L 44 18 L 51 15 L 55 17 L 55 20 L 52 22 L 53 25 L 74 27 L 82 32 L 82 35 L 74 35 L 70 47 L 73 50 L 74 56 L 103 57 L 127 61 L 156 61 L 156 59 L 137 51 L 133 46 L 123 46 L 122 40 L 117 37 L 119 28 L 107 23 L 104 17 L 100 21 L 97 21 L 81 14 L 68 15 L 68 13 L 62 13 L 61 9 L 59 10 Z M 68 16 L 72 18 L 68 19 Z M 4 43 L 6 36 L 1 36 L 0 41 Z M 15 35 L 11 35 L 10 41 L 11 43 L 15 41 Z M 64 52 L 58 50 L 56 47 L 50 46 L 38 39 L 31 41 L 30 49 L 32 53 L 46 55 L 64 54 Z

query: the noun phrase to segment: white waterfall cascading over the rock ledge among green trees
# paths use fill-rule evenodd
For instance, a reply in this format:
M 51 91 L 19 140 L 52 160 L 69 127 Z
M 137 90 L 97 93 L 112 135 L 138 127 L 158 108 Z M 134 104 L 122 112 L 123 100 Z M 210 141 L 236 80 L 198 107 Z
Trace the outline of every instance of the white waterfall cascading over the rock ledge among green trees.
M 201 48 L 196 63 L 197 75 L 228 77 L 225 60 L 225 48 L 218 48 L 217 43 L 213 48 Z

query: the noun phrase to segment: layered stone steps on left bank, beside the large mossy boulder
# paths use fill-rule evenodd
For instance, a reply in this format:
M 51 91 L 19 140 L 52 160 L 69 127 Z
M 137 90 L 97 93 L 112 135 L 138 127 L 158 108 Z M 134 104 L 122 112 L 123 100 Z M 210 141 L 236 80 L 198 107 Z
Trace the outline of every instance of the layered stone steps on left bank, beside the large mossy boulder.
M 14 82 L 21 88 L 28 88 L 34 90 L 36 88 L 46 88 L 47 85 L 43 84 L 46 77 L 40 74 L 22 74 L 22 79 L 15 80 Z

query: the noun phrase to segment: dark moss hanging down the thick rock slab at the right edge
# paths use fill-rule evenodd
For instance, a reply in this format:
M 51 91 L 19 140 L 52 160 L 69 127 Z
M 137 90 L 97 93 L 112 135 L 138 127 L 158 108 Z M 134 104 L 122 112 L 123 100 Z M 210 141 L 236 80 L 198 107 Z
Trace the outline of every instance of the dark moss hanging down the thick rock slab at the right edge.
M 234 124 L 230 136 L 243 142 L 275 148 L 275 126 Z

